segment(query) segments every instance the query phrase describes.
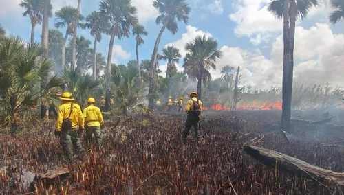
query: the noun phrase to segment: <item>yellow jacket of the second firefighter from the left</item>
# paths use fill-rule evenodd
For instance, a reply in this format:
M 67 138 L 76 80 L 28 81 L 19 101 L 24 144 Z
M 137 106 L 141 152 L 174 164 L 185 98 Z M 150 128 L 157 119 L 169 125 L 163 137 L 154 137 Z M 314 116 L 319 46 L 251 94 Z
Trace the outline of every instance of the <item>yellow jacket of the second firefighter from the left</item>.
M 86 126 L 102 126 L 104 124 L 100 109 L 93 104 L 84 109 L 83 115 Z

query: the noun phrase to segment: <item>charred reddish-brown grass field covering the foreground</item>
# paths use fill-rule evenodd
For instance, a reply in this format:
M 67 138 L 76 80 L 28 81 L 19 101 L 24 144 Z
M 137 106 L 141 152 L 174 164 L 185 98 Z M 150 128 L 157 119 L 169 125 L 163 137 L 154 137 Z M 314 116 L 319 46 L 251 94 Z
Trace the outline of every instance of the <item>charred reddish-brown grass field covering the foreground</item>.
M 341 146 L 323 144 L 341 139 L 288 143 L 277 130 L 279 117 L 279 111 L 208 111 L 200 140 L 190 137 L 187 144 L 180 139 L 183 115 L 113 118 L 103 131 L 103 147 L 67 167 L 49 133 L 52 124 L 17 137 L 0 135 L 0 194 L 339 193 L 330 182 L 282 172 L 277 164 L 269 168 L 243 152 L 251 144 L 344 171 Z M 63 174 L 34 179 L 50 170 Z

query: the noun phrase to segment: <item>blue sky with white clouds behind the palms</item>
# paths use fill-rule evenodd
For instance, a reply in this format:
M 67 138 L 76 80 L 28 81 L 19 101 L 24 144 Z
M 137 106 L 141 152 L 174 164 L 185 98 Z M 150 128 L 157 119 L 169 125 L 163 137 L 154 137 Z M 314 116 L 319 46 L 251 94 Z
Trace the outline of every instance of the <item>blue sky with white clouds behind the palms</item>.
M 271 0 L 186 0 L 190 7 L 189 22 L 178 23 L 178 32 L 165 31 L 160 51 L 167 45 L 180 49 L 184 57 L 186 43 L 196 36 L 215 38 L 222 51 L 217 60 L 217 69 L 211 71 L 213 78 L 221 76 L 222 67 L 241 67 L 241 84 L 250 84 L 254 89 L 269 89 L 281 86 L 283 64 L 283 22 L 268 12 Z M 297 21 L 295 34 L 294 78 L 299 84 L 325 84 L 344 87 L 344 21 L 332 25 L 329 15 L 333 11 L 329 0 L 319 0 L 320 5 L 312 8 L 308 16 Z M 0 24 L 12 36 L 30 40 L 30 20 L 23 17 L 19 7 L 21 0 L 0 0 Z M 98 10 L 100 0 L 82 0 L 81 13 L 84 16 Z M 149 59 L 153 52 L 155 38 L 160 30 L 155 24 L 158 10 L 153 0 L 131 0 L 138 10 L 139 22 L 149 35 L 144 37 L 140 47 L 140 59 Z M 63 6 L 76 7 L 77 0 L 52 0 L 53 12 Z M 54 17 L 50 27 L 54 28 Z M 36 27 L 35 39 L 40 41 L 41 25 Z M 65 30 L 61 29 L 61 32 Z M 93 43 L 88 30 L 78 30 Z M 92 45 L 91 45 L 92 46 Z M 109 36 L 103 35 L 99 51 L 107 56 Z M 133 36 L 116 40 L 113 62 L 126 64 L 135 60 L 135 39 Z M 178 70 L 182 71 L 182 62 Z M 166 71 L 166 62 L 160 62 L 160 69 Z

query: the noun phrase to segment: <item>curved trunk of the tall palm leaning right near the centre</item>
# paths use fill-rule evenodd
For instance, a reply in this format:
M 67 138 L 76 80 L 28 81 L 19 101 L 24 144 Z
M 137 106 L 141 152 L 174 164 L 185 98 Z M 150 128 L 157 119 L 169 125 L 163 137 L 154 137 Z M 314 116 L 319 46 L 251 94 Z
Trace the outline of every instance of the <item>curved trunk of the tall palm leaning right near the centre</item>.
M 156 60 L 158 58 L 158 49 L 159 49 L 159 44 L 161 40 L 161 36 L 164 33 L 164 30 L 166 29 L 165 25 L 162 26 L 158 37 L 156 38 L 155 45 L 154 45 L 154 50 L 153 50 L 153 55 L 151 58 L 151 73 L 149 76 L 149 93 L 148 93 L 148 108 L 153 111 L 154 109 L 154 91 L 155 91 L 155 65 L 156 65 Z

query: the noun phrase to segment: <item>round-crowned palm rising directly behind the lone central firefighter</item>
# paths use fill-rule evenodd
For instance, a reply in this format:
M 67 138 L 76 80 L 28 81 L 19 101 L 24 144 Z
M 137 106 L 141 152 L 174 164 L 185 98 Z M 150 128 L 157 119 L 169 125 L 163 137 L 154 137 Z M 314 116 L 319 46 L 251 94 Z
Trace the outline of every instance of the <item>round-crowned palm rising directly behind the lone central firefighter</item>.
M 197 79 L 197 93 L 202 98 L 202 81 L 211 80 L 211 69 L 215 70 L 215 62 L 221 58 L 222 52 L 217 49 L 217 41 L 206 36 L 197 36 L 185 47 L 188 54 L 184 58 L 185 72 Z

